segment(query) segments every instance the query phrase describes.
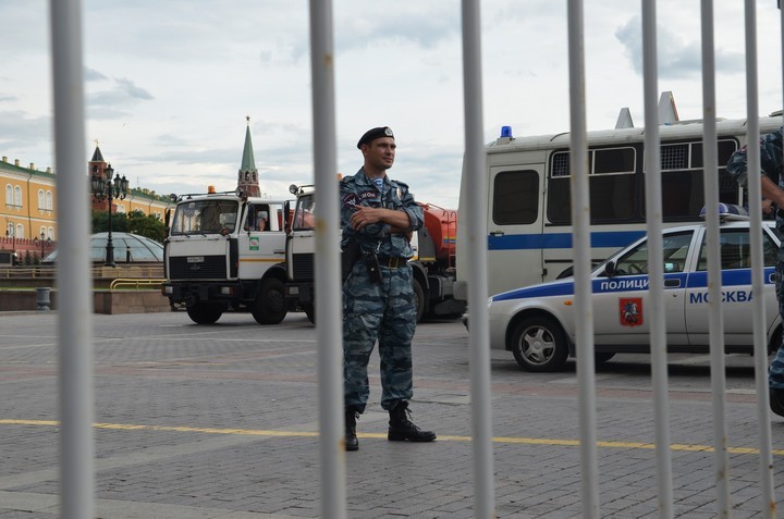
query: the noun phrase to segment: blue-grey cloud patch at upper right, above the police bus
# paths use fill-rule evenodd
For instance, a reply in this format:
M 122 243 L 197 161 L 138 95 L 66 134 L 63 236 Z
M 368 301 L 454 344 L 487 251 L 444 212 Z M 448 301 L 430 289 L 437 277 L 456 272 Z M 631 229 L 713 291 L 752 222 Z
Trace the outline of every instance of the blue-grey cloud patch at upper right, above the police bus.
M 625 47 L 626 57 L 634 71 L 642 74 L 641 18 L 636 15 L 615 30 L 615 38 Z M 699 36 L 699 34 L 697 35 Z M 702 49 L 699 39 L 686 40 L 669 27 L 658 27 L 658 65 L 663 79 L 699 77 L 702 66 Z M 716 72 L 743 72 L 744 53 L 725 49 L 715 51 Z

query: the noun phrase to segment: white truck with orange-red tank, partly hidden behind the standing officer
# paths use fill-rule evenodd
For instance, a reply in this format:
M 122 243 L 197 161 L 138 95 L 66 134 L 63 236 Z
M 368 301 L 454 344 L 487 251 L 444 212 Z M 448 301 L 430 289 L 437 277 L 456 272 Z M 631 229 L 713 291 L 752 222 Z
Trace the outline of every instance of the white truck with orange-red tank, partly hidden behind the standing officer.
M 289 190 L 296 197 L 296 206 L 286 228 L 286 299 L 290 308 L 302 309 L 315 322 L 315 188 L 292 185 Z M 453 293 L 457 211 L 431 203 L 419 206 L 424 209 L 425 225 L 412 237 L 414 257 L 409 261 L 417 321 L 424 317 L 458 318 L 466 304 L 455 299 Z

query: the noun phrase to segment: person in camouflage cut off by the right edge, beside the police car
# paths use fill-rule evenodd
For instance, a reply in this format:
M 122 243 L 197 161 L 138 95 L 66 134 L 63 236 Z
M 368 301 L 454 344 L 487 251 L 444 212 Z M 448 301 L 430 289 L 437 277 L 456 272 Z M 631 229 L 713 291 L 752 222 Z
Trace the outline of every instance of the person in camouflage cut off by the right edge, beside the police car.
M 760 168 L 762 196 L 773 202 L 775 207 L 784 208 L 784 174 L 782 166 L 782 131 L 773 132 L 760 139 Z M 733 153 L 727 163 L 727 173 L 742 186 L 748 181 L 747 147 Z M 776 230 L 784 236 L 784 210 L 776 211 Z M 776 299 L 779 313 L 784 318 L 784 242 L 779 247 L 779 261 L 775 267 Z M 784 337 L 783 337 L 784 338 Z M 779 347 L 776 356 L 771 363 L 768 385 L 770 387 L 770 407 L 773 412 L 784 417 L 784 342 Z

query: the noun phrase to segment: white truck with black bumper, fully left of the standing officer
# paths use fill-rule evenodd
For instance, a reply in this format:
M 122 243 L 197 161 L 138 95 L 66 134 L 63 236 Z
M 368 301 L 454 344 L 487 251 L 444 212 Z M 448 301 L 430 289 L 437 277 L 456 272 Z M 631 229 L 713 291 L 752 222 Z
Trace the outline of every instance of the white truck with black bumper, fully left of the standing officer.
M 181 195 L 163 244 L 166 282 L 172 309 L 197 324 L 224 312 L 250 312 L 259 324 L 286 316 L 284 232 L 287 200 L 235 191 Z

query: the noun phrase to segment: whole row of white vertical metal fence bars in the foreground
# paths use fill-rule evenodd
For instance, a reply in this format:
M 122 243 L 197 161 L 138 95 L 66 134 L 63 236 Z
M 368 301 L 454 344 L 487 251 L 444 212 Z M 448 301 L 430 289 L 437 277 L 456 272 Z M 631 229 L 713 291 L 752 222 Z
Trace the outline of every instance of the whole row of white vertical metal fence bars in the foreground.
M 479 0 L 463 0 L 463 53 L 464 53 L 464 110 L 465 110 L 465 168 L 485 170 L 482 141 L 482 89 L 481 89 L 481 37 Z M 587 178 L 587 138 L 584 57 L 584 1 L 568 0 L 568 62 L 569 62 L 569 119 L 571 119 L 571 171 L 572 211 L 589 214 Z M 90 386 L 93 321 L 89 307 L 89 261 L 87 237 L 89 222 L 84 208 L 88 207 L 86 177 L 83 175 L 85 157 L 84 88 L 82 79 L 82 5 L 79 0 L 50 0 L 51 41 L 54 81 L 56 157 L 59 171 L 60 196 L 60 247 L 71 254 L 63 255 L 58 265 L 61 291 L 70 294 L 72 304 L 60 310 L 60 412 L 61 412 L 61 514 L 65 519 L 94 517 L 94 465 L 93 444 L 93 388 Z M 658 133 L 658 77 L 656 1 L 641 0 L 644 40 L 644 95 L 646 120 L 646 147 L 657 149 Z M 713 59 L 713 3 L 701 0 L 702 21 L 702 73 L 705 119 L 705 164 L 707 170 L 716 169 L 715 150 L 715 96 Z M 746 67 L 747 67 L 747 118 L 750 143 L 757 141 L 759 113 L 757 107 L 757 48 L 756 3 L 745 0 Z M 319 408 L 320 461 L 321 461 L 321 517 L 346 517 L 346 483 L 343 460 L 342 416 L 342 353 L 339 309 L 339 250 L 338 250 L 338 194 L 334 183 L 336 169 L 336 138 L 334 113 L 334 49 L 332 37 L 332 2 L 310 0 L 311 72 L 314 101 L 314 164 L 316 185 L 321 208 L 321 222 L 316 225 L 317 254 L 317 320 L 318 338 L 322 345 L 333 345 L 319 350 Z M 316 138 L 318 136 L 318 138 Z M 755 147 L 752 147 L 755 148 Z M 661 169 L 659 153 L 647 153 L 646 207 L 648 234 L 661 234 Z M 749 150 L 749 170 L 759 170 L 759 150 Z M 487 324 L 487 270 L 485 232 L 487 194 L 482 182 L 475 176 L 475 185 L 466 186 L 470 193 L 469 215 L 465 220 L 470 251 L 469 308 L 471 330 L 469 336 L 471 362 L 471 420 L 475 473 L 475 517 L 494 517 L 493 454 L 490 417 L 489 330 Z M 710 300 L 720 301 L 721 275 L 719 271 L 716 212 L 718 188 L 711 176 L 706 175 L 706 201 L 708 202 L 709 279 Z M 752 289 L 762 292 L 761 248 L 761 190 L 759 183 L 750 183 Z M 592 314 L 590 305 L 590 254 L 588 218 L 574 219 L 575 248 L 575 305 L 579 310 L 577 336 L 580 351 L 593 350 Z M 756 243 L 755 243 L 756 242 Z M 658 240 L 650 243 L 651 308 L 651 363 L 654 381 L 654 419 L 658 466 L 659 516 L 673 517 L 672 467 L 669 434 L 666 347 L 663 312 L 663 262 L 662 247 Z M 656 282 L 659 280 L 659 282 Z M 759 452 L 762 509 L 761 517 L 775 517 L 773 496 L 772 449 L 770 418 L 768 411 L 767 355 L 764 345 L 763 299 L 755 298 L 755 351 L 757 371 Z M 726 448 L 726 422 L 724 419 L 724 360 L 722 317 L 720 305 L 714 305 L 711 323 L 711 373 L 713 410 L 715 416 L 715 489 L 718 517 L 731 517 L 727 484 L 728 457 Z M 332 324 L 330 324 L 332 323 Z M 580 459 L 581 498 L 585 518 L 600 517 L 598 461 L 596 446 L 596 404 L 593 356 L 581 355 L 578 360 L 578 385 L 580 393 Z

